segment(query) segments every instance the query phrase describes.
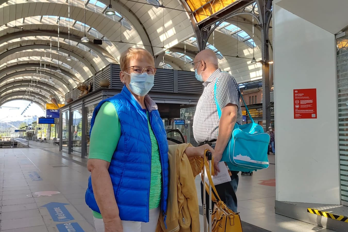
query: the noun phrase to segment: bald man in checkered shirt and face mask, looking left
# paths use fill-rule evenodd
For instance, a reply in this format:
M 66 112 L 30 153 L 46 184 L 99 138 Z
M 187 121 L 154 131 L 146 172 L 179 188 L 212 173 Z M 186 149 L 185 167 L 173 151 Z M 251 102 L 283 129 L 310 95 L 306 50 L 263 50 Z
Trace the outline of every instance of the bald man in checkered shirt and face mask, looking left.
M 193 118 L 193 136 L 200 145 L 209 144 L 214 149 L 214 169 L 220 171 L 217 163 L 222 158 L 231 137 L 235 123 L 242 124 L 242 109 L 239 102 L 239 91 L 236 80 L 227 72 L 219 69 L 216 54 L 205 49 L 198 53 L 192 63 L 196 79 L 203 82 L 203 94 L 199 98 Z M 214 99 L 214 85 L 217 84 L 217 102 L 221 107 L 221 118 L 217 114 Z M 220 198 L 226 205 L 237 212 L 238 171 L 231 170 L 231 181 L 216 185 Z M 203 184 L 201 184 L 203 201 Z M 206 193 L 206 199 L 208 195 Z M 208 207 L 207 207 L 208 215 Z

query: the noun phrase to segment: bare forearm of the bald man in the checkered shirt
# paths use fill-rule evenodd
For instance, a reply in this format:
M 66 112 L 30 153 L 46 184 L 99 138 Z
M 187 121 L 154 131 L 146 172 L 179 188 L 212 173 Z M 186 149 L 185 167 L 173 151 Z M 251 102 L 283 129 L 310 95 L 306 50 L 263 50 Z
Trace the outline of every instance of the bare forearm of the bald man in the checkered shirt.
M 221 115 L 219 121 L 219 131 L 215 145 L 215 153 L 222 155 L 225 150 L 228 141 L 231 137 L 232 130 L 236 123 L 236 115 L 235 114 L 225 114 Z

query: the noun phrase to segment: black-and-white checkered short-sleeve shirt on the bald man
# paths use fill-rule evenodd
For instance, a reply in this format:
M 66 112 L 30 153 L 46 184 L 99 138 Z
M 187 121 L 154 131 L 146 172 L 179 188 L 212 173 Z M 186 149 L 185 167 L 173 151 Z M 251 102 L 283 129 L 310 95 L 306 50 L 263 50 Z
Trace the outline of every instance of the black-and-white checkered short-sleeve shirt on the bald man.
M 222 72 L 221 69 L 217 69 L 203 83 L 203 93 L 198 100 L 193 117 L 193 136 L 197 143 L 217 139 L 219 115 L 214 98 L 216 80 L 216 98 L 221 109 L 229 103 L 237 105 L 237 123 L 239 125 L 242 124 L 243 117 L 242 109 L 240 108 L 239 86 L 228 72 Z

